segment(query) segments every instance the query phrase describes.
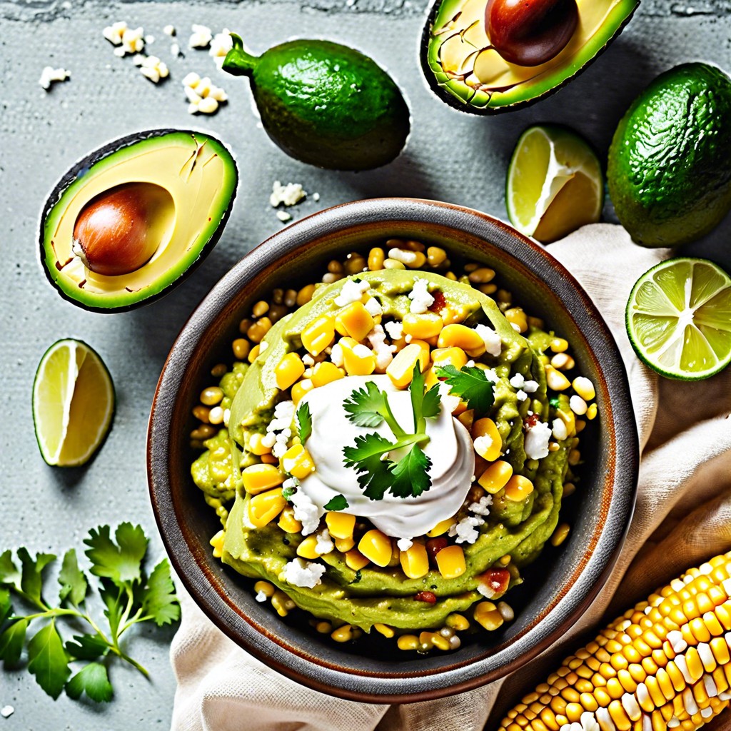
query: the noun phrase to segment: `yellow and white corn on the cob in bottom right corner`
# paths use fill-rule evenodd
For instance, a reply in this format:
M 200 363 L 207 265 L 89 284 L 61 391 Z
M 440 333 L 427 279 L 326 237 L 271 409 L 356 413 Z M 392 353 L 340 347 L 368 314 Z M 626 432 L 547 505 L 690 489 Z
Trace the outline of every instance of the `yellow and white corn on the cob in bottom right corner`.
M 500 731 L 696 731 L 731 701 L 731 552 L 689 569 L 567 657 Z

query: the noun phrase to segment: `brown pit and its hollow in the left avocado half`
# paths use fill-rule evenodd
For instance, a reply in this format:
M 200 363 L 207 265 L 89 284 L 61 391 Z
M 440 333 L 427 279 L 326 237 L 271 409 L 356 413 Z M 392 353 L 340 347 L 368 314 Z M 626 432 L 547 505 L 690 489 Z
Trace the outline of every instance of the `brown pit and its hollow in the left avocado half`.
M 115 186 L 94 197 L 80 212 L 72 251 L 95 274 L 132 273 L 159 249 L 174 213 L 173 198 L 162 186 Z

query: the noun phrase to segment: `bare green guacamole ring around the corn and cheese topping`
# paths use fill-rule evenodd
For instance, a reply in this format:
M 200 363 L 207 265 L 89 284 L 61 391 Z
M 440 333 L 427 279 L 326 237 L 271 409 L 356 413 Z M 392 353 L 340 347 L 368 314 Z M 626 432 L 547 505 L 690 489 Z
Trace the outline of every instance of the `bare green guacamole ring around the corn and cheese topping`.
M 519 335 L 496 303 L 469 285 L 425 272 L 419 272 L 418 277 L 439 287 L 450 306 L 463 307 L 468 324 L 486 322 L 501 336 L 504 347 L 495 366 L 500 381 L 495 386 L 491 417 L 498 425 L 503 443 L 510 449 L 514 468 L 529 477 L 535 486 L 531 498 L 525 502 L 512 502 L 501 493 L 494 496 L 491 515 L 480 531 L 480 537 L 472 545 L 463 545 L 468 564 L 463 576 L 446 580 L 438 571 L 431 570 L 419 579 L 409 579 L 399 567 L 366 567 L 355 572 L 346 566 L 339 553 L 333 551 L 321 557 L 327 564 L 322 583 L 312 589 L 292 586 L 279 575 L 285 564 L 296 557 L 300 537 L 284 534 L 276 523 L 263 529 L 247 526 L 245 516 L 251 496 L 240 489 L 237 460 L 242 460 L 243 466 L 249 452 L 245 450 L 242 454 L 239 447 L 246 447 L 250 433 L 265 428 L 271 409 L 280 398 L 274 368 L 281 357 L 299 349 L 300 333 L 309 322 L 321 314 L 340 309 L 334 300 L 346 279 L 319 287 L 307 305 L 276 322 L 262 341 L 262 344 L 266 343 L 264 352 L 246 370 L 231 404 L 232 482 L 238 484 L 238 490 L 226 523 L 222 560 L 246 577 L 263 578 L 276 584 L 298 607 L 314 616 L 366 630 L 376 623 L 401 629 L 443 626 L 448 614 L 465 611 L 480 598 L 476 591 L 478 577 L 501 556 L 510 555 L 518 567 L 534 560 L 558 523 L 567 469 L 569 442 L 564 442 L 559 450 L 550 452 L 539 463 L 526 461 L 523 449 L 523 417 L 527 410 L 539 414 L 542 420 L 548 417 L 545 371 L 539 352 L 548 346 L 550 337 L 540 330 L 531 331 L 528 338 Z M 412 289 L 414 273 L 380 270 L 358 274 L 355 279 L 368 281 L 381 303 L 384 317 L 403 319 L 409 311 L 410 300 L 406 295 Z M 522 406 L 517 404 L 514 392 L 507 385 L 508 379 L 516 373 L 539 383 L 535 398 L 523 402 Z M 568 399 L 563 398 L 564 407 L 568 408 Z M 206 486 L 197 479 L 196 482 L 205 491 Z M 414 594 L 419 591 L 433 591 L 438 597 L 436 604 L 414 601 Z

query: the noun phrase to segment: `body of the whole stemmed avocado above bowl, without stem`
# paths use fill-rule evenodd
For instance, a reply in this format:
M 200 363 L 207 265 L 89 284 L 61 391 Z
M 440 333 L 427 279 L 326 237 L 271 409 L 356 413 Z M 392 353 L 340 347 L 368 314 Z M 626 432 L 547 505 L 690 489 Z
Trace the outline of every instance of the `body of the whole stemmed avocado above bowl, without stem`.
M 288 155 L 333 170 L 391 162 L 409 135 L 409 107 L 363 53 L 295 40 L 262 54 L 251 74 L 262 124 Z

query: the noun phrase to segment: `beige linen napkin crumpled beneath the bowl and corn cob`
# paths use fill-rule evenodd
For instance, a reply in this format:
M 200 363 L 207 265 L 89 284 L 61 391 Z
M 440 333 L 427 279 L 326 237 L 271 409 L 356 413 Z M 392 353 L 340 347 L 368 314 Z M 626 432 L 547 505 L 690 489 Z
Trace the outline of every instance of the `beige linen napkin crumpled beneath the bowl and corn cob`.
M 635 246 L 624 229 L 610 224 L 584 227 L 549 250 L 580 281 L 613 331 L 643 449 L 637 508 L 624 548 L 601 594 L 561 640 L 563 657 L 577 648 L 573 635 L 599 629 L 600 621 L 683 569 L 731 550 L 731 368 L 699 383 L 670 382 L 657 379 L 632 351 L 624 329 L 626 300 L 637 278 L 667 250 Z M 532 690 L 521 676 L 535 673 L 541 662 L 504 683 L 444 700 L 366 705 L 287 680 L 221 634 L 188 596 L 182 603 L 183 620 L 171 648 L 178 678 L 173 731 L 477 731 L 499 693 L 504 705 L 505 698 L 514 703 Z M 607 607 L 613 616 L 606 615 Z M 726 711 L 719 721 L 731 725 L 729 716 Z M 488 731 L 499 721 L 491 717 Z

